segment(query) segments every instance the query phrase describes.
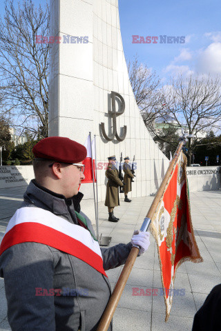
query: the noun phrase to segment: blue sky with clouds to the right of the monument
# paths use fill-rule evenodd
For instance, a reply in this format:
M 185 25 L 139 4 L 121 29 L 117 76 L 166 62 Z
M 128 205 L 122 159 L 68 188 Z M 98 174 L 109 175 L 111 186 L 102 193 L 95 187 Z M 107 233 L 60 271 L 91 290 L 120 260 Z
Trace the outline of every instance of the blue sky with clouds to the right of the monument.
M 145 63 L 162 80 L 182 72 L 221 74 L 220 0 L 119 0 L 126 60 Z M 132 35 L 158 37 L 157 43 L 132 43 Z M 185 43 L 160 43 L 160 35 L 185 37 Z

